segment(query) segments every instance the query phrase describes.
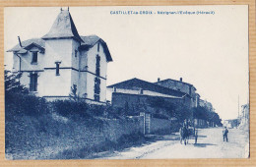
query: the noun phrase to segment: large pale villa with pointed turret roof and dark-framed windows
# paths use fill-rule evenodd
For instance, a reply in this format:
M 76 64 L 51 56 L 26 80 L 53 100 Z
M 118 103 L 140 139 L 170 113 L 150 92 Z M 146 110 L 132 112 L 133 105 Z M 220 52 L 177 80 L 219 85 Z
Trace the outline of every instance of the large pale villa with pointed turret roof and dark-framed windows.
M 96 35 L 80 35 L 69 10 L 61 9 L 44 36 L 19 37 L 8 51 L 13 52 L 13 71 L 23 74 L 20 82 L 31 93 L 66 99 L 73 89 L 88 102 L 106 102 L 106 69 L 112 61 L 107 45 Z

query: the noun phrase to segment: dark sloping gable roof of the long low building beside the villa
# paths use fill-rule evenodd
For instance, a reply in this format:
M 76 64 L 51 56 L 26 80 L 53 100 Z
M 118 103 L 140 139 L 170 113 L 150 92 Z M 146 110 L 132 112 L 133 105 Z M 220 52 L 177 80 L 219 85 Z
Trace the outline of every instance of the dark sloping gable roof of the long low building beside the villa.
M 156 91 L 156 92 L 160 92 L 162 94 L 168 94 L 168 95 L 173 95 L 173 96 L 177 96 L 177 97 L 182 97 L 184 95 L 188 95 L 184 92 L 178 91 L 178 90 L 174 90 L 171 88 L 167 88 L 164 86 L 161 86 L 159 84 L 156 83 L 149 83 L 143 80 L 139 80 L 139 79 L 131 79 L 128 81 L 124 81 L 121 83 L 115 83 L 115 84 L 111 84 L 108 85 L 107 87 L 116 87 L 116 88 L 131 88 L 131 89 L 138 89 L 138 88 L 142 88 L 145 90 L 152 90 L 152 91 Z M 189 95 L 188 95 L 189 96 Z

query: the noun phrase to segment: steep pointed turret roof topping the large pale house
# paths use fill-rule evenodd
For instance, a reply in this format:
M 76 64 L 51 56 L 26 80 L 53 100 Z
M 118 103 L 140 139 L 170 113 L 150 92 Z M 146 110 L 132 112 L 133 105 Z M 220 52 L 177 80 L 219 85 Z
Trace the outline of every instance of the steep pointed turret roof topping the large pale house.
M 42 39 L 73 37 L 82 41 L 68 10 L 61 10 L 49 32 Z

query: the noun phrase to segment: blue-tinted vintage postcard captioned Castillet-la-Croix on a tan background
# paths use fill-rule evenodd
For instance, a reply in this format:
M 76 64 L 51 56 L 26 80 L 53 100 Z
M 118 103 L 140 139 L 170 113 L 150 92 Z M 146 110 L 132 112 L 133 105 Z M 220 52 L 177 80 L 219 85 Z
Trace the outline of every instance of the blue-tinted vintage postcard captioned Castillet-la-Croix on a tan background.
M 248 5 L 5 7 L 5 158 L 248 158 Z

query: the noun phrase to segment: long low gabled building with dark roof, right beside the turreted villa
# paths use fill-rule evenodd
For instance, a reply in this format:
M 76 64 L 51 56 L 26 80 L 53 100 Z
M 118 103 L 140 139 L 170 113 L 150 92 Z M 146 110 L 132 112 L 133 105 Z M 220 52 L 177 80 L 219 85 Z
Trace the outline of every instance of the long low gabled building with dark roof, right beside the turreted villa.
M 148 100 L 154 98 L 162 98 L 170 103 L 188 108 L 192 106 L 189 94 L 136 78 L 109 85 L 107 88 L 111 91 L 111 103 L 114 107 L 132 108 L 138 104 L 149 106 Z M 148 110 L 154 109 L 148 107 Z

